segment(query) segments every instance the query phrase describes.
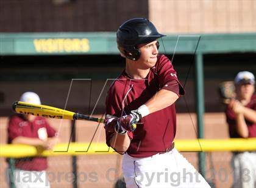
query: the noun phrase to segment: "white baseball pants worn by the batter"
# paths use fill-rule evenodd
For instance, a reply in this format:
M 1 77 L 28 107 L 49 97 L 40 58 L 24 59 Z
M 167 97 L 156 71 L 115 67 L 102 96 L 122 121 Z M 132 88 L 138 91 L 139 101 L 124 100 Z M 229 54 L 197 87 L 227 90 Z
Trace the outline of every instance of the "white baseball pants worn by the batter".
M 210 188 L 202 175 L 175 148 L 146 158 L 124 154 L 123 175 L 127 188 Z

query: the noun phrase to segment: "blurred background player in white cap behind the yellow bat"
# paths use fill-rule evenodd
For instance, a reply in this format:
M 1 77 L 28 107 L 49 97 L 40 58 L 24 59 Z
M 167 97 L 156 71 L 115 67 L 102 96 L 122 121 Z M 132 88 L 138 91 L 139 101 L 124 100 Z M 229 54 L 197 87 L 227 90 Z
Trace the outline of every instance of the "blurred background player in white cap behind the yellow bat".
M 20 101 L 41 104 L 39 96 L 34 92 L 23 93 Z M 57 132 L 48 124 L 46 118 L 16 113 L 10 117 L 9 144 L 26 144 L 41 149 L 52 149 L 57 141 Z M 49 188 L 47 167 L 47 159 L 43 156 L 16 158 L 13 178 L 15 187 Z

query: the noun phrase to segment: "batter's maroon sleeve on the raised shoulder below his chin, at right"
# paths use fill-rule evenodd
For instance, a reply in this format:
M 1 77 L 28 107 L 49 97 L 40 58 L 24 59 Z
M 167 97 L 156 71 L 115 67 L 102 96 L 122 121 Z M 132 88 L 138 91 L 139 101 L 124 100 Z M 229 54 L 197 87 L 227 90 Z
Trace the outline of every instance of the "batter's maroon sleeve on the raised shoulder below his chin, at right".
M 178 96 L 185 95 L 185 89 L 180 84 L 171 61 L 164 55 L 161 55 L 158 61 L 157 74 L 160 89 L 171 90 Z

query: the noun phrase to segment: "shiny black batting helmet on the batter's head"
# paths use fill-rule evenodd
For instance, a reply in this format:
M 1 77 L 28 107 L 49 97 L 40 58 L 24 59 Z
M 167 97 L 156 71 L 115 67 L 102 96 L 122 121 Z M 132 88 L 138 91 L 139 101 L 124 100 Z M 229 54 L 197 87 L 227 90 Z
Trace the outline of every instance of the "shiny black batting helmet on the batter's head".
M 141 52 L 138 44 L 149 43 L 161 38 L 155 25 L 146 18 L 133 18 L 124 22 L 116 33 L 118 49 L 128 59 L 136 61 L 140 58 Z

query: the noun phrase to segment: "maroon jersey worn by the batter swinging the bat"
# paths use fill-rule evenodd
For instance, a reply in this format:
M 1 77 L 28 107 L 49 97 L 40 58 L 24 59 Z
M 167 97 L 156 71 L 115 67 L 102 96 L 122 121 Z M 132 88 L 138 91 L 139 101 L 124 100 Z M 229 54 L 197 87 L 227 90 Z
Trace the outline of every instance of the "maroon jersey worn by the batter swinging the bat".
M 106 114 L 113 116 L 128 115 L 131 110 L 146 103 L 160 89 L 171 90 L 177 95 L 184 95 L 171 61 L 164 55 L 157 56 L 146 79 L 131 79 L 124 72 L 113 82 L 106 98 Z M 114 133 L 106 132 L 107 145 Z M 144 116 L 134 132 L 128 132 L 131 139 L 127 153 L 134 157 L 152 156 L 165 151 L 176 135 L 176 109 L 172 104 Z

